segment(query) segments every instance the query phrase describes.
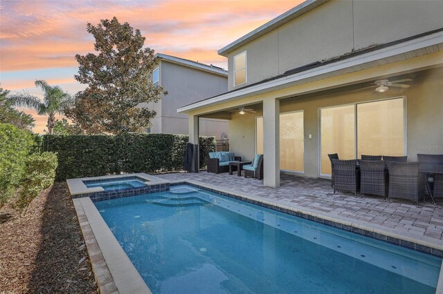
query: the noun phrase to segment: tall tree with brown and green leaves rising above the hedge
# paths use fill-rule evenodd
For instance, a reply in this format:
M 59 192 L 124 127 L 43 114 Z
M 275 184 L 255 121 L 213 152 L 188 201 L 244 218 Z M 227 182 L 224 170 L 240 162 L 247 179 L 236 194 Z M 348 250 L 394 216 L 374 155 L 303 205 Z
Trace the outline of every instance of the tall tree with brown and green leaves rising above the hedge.
M 66 116 L 87 133 L 119 134 L 150 127 L 156 112 L 140 105 L 167 94 L 150 79 L 157 64 L 154 50 L 143 48 L 140 30 L 116 17 L 102 19 L 98 26 L 87 23 L 87 31 L 96 39 L 98 54 L 75 55 L 75 79 L 88 86 L 75 96 Z

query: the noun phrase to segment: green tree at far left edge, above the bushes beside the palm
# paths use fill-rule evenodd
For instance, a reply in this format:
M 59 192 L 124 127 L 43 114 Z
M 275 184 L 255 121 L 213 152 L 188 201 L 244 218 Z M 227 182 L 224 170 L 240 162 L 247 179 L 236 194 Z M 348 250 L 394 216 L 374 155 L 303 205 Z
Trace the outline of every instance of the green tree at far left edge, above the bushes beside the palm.
M 24 130 L 32 130 L 35 126 L 33 116 L 12 108 L 12 103 L 7 98 L 9 93 L 10 91 L 0 88 L 0 123 L 12 124 Z

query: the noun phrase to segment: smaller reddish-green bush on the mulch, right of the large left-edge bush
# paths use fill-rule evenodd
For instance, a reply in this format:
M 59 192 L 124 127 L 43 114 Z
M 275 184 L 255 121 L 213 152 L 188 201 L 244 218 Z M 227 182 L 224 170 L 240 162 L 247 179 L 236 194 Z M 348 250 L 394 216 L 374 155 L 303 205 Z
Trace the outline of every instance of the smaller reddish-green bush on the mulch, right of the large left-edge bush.
M 15 208 L 26 215 L 30 202 L 54 183 L 57 155 L 51 152 L 34 153 L 26 158 L 24 183 Z

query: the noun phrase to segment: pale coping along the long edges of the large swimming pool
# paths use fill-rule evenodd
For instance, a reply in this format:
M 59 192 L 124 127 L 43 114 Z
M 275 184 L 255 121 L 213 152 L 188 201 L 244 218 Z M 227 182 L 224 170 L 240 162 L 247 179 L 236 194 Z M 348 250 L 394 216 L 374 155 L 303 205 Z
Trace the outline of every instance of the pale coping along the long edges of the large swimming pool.
M 203 188 L 204 190 L 209 190 L 210 192 L 215 192 L 227 197 L 239 199 L 244 202 L 248 202 L 265 208 L 270 208 L 272 210 L 280 211 L 282 213 L 286 213 L 289 215 L 294 215 L 296 217 L 308 219 L 313 222 L 319 222 L 327 226 L 333 226 L 343 231 L 350 231 L 352 233 L 363 235 L 365 237 L 370 237 L 372 239 L 379 239 L 383 242 L 388 242 L 390 244 L 395 244 L 397 246 L 409 248 L 414 251 L 419 251 L 429 255 L 435 255 L 440 258 L 443 257 L 443 242 L 440 243 L 435 242 L 435 240 L 429 237 L 421 236 L 421 239 L 417 239 L 417 237 L 413 235 L 407 235 L 405 233 L 398 234 L 395 232 L 395 230 L 388 230 L 376 224 L 370 224 L 370 226 L 368 226 L 367 223 L 360 222 L 357 220 L 350 221 L 350 219 L 346 219 L 345 217 L 341 217 L 338 215 L 331 216 L 307 208 L 300 209 L 293 206 L 292 207 L 285 206 L 283 204 L 278 204 L 263 199 L 262 197 L 249 197 L 242 193 L 235 193 L 232 190 L 226 190 L 223 188 L 219 188 L 217 186 L 213 186 L 211 184 L 205 184 L 189 179 L 175 180 L 175 181 L 169 181 L 165 179 L 162 180 L 163 183 L 168 184 L 168 188 L 169 186 L 189 184 L 190 186 Z M 155 192 L 152 191 L 152 193 Z M 115 286 L 117 288 L 116 293 L 151 293 L 149 287 L 146 285 L 143 278 L 141 277 L 141 275 L 138 273 L 138 271 L 130 261 L 129 257 L 127 257 L 125 251 L 123 251 L 123 248 L 118 243 L 116 237 L 114 237 L 114 234 L 109 229 L 109 226 L 107 226 L 105 220 L 98 212 L 91 198 L 73 197 L 73 202 L 75 205 L 75 209 L 77 210 L 80 226 L 82 227 L 82 233 L 87 243 L 88 254 L 89 257 L 91 258 L 91 264 L 93 264 L 93 272 L 94 275 L 96 276 L 96 281 L 98 282 L 98 284 L 100 282 L 100 279 L 104 280 L 103 276 L 100 276 L 100 273 L 102 272 L 106 273 L 106 271 L 102 270 L 96 273 L 96 271 L 94 271 L 95 261 L 93 261 L 93 259 L 94 260 L 98 259 L 99 257 L 96 256 L 102 255 L 102 259 L 99 259 L 99 262 L 96 265 L 96 267 L 103 268 L 103 262 L 105 263 L 105 266 L 106 268 L 108 268 L 109 271 L 111 282 L 115 282 Z M 87 222 L 84 222 L 85 219 Z M 83 228 L 82 224 L 84 224 L 85 228 Z M 87 225 L 91 226 L 91 228 L 88 229 Z M 90 232 L 92 233 L 93 238 L 96 239 L 96 244 L 98 244 L 98 250 L 96 246 L 91 245 L 94 243 L 93 241 L 91 241 L 92 237 L 90 237 L 91 235 Z M 98 232 L 98 235 L 96 235 L 95 232 Z M 100 246 L 101 244 L 102 246 L 104 246 L 103 247 L 104 250 L 101 250 Z M 91 247 L 91 250 L 89 247 Z M 98 251 L 100 251 L 100 253 L 98 253 Z M 123 262 L 123 264 L 120 264 L 120 262 L 116 262 L 116 259 L 120 260 L 120 262 Z M 129 275 L 129 273 L 134 273 L 134 275 Z M 107 276 L 108 279 L 109 276 Z M 116 279 L 119 282 L 116 282 L 117 281 Z M 107 284 L 102 285 L 103 290 L 102 286 L 100 286 L 99 284 L 100 293 L 114 293 L 114 291 L 109 291 L 108 289 L 111 288 L 115 290 L 115 288 L 108 286 L 108 284 L 111 282 L 108 282 L 108 280 L 105 281 L 107 282 Z M 127 291 L 127 289 L 125 288 L 126 286 L 128 286 L 128 284 L 129 286 L 144 284 L 146 288 L 145 291 L 131 292 Z M 106 288 L 105 286 L 107 286 L 108 288 Z M 442 265 L 440 266 L 440 275 L 437 282 L 437 288 L 435 293 L 443 293 L 443 259 L 442 259 Z

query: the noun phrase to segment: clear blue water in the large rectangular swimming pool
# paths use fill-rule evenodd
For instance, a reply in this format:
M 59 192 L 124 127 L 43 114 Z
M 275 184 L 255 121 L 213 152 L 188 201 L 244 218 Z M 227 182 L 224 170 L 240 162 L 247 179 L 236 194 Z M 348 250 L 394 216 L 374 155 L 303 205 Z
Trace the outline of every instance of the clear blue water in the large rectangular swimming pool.
M 95 205 L 153 293 L 435 293 L 442 263 L 190 186 Z

